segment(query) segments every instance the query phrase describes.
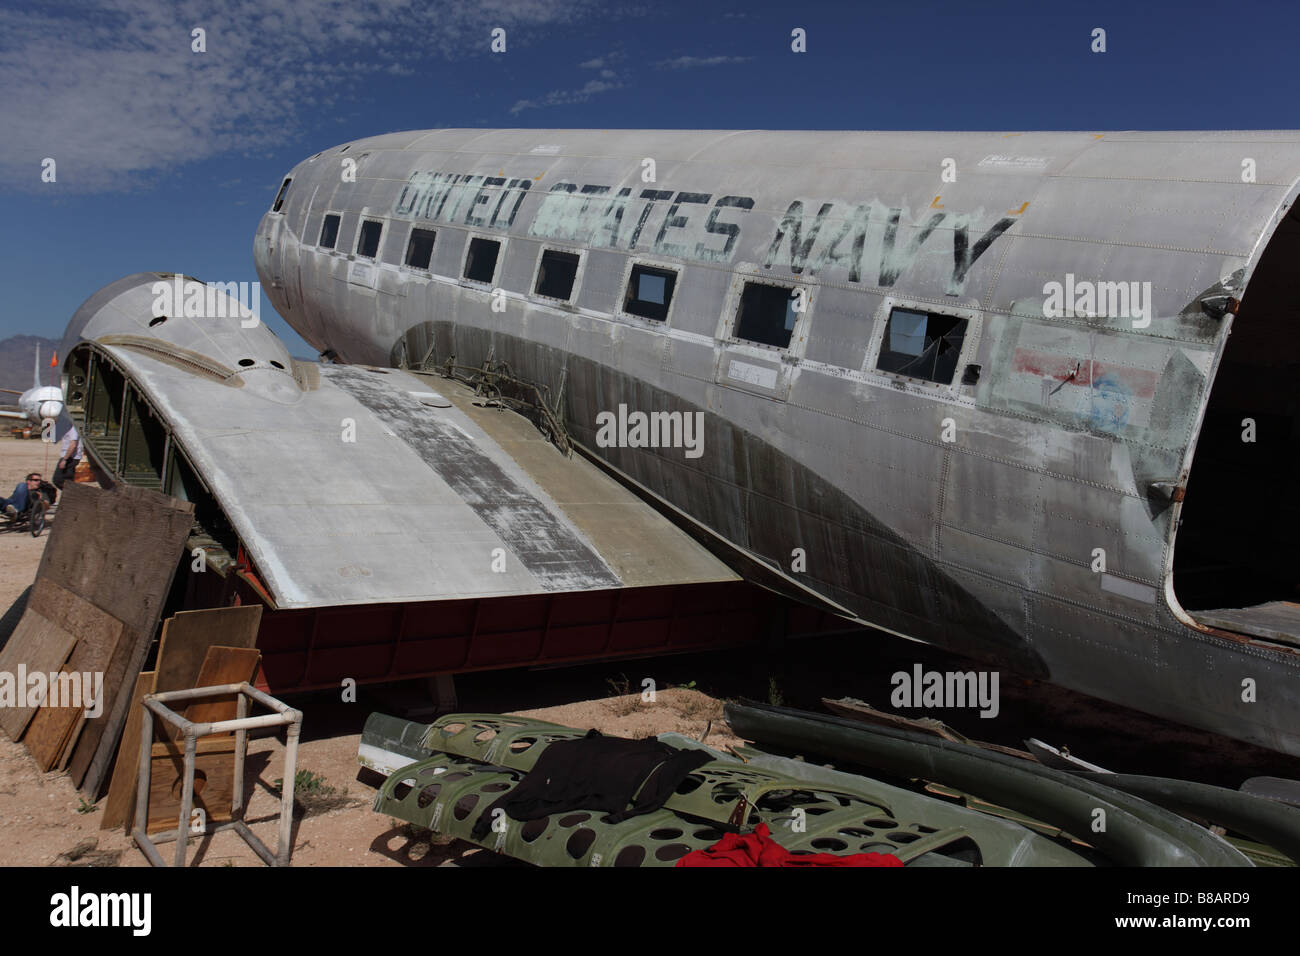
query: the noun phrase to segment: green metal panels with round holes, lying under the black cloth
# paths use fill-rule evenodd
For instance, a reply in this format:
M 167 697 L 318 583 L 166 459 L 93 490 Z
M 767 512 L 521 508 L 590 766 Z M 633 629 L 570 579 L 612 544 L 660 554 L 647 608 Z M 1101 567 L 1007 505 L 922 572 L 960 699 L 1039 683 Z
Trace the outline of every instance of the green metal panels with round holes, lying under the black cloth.
M 374 801 L 378 813 L 472 840 L 478 816 L 524 778 L 554 740 L 582 736 L 558 724 L 498 714 L 452 714 L 425 734 L 437 753 L 394 773 Z M 961 827 L 936 830 L 900 821 L 883 803 L 749 767 L 712 761 L 690 774 L 663 809 L 620 823 L 599 812 L 558 813 L 538 821 L 499 816 L 477 842 L 547 866 L 672 866 L 711 847 L 741 799 L 744 830 L 759 823 L 792 852 L 893 853 L 904 862 L 968 840 Z

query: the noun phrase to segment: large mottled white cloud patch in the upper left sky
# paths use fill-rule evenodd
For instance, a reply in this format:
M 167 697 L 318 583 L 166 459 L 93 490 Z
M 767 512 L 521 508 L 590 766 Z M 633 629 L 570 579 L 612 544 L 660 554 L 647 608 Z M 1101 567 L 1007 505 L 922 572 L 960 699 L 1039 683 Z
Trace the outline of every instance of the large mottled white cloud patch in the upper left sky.
M 94 0 L 0 9 L 0 190 L 126 189 L 177 165 L 266 150 L 341 78 L 411 75 L 411 62 L 484 52 L 503 26 L 590 17 L 564 0 Z M 191 51 L 191 30 L 207 52 Z M 350 64 L 339 66 L 339 64 Z

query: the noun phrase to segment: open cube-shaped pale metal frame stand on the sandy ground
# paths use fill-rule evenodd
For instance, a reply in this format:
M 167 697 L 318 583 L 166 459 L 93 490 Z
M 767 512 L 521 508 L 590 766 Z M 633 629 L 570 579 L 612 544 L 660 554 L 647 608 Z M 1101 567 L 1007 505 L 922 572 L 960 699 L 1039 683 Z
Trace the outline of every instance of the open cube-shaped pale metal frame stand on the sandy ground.
M 205 697 L 220 697 L 222 695 L 238 693 L 239 702 L 235 719 L 217 721 L 216 723 L 191 723 L 183 717 L 170 710 L 166 702 L 170 701 L 196 701 Z M 256 701 L 269 708 L 270 714 L 248 717 L 250 701 Z M 185 866 L 185 851 L 190 836 L 198 834 L 214 834 L 222 830 L 234 830 L 243 838 L 243 842 L 261 857 L 268 866 L 289 866 L 289 853 L 292 849 L 290 831 L 294 825 L 294 775 L 298 771 L 298 737 L 303 730 L 303 713 L 294 710 L 274 697 L 270 697 L 248 682 L 239 684 L 217 684 L 213 687 L 195 687 L 187 691 L 168 691 L 166 693 L 151 693 L 144 697 L 146 721 L 140 732 L 140 771 L 139 788 L 135 795 L 135 829 L 131 830 L 131 839 L 140 848 L 153 866 L 166 866 L 159 853 L 157 844 L 176 842 L 176 856 L 173 866 Z M 157 836 L 148 835 L 150 817 L 150 773 L 153 757 L 153 717 L 161 718 L 164 723 L 176 727 L 185 736 L 185 779 L 181 791 L 181 816 L 177 819 L 177 829 L 168 830 Z M 285 741 L 285 782 L 280 796 L 280 838 L 276 843 L 276 853 L 272 855 L 266 845 L 248 829 L 243 821 L 243 765 L 248 750 L 248 731 L 260 727 L 286 727 Z M 202 831 L 191 832 L 188 827 L 190 813 L 194 809 L 194 757 L 198 749 L 199 737 L 213 734 L 235 732 L 235 778 L 234 795 L 231 803 L 231 819 L 229 823 L 204 826 Z

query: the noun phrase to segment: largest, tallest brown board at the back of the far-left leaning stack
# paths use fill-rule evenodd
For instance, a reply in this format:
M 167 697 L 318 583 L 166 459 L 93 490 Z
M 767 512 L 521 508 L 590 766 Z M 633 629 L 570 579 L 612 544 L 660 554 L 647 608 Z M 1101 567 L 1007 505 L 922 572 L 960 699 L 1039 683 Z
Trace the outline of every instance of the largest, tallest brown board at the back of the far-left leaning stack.
M 192 524 L 192 503 L 157 492 L 125 484 L 112 492 L 64 486 L 36 576 L 126 626 L 104 674 L 104 714 L 86 722 L 68 767 L 90 800 L 98 799 L 108 775 L 126 722 L 130 682 L 144 665 Z

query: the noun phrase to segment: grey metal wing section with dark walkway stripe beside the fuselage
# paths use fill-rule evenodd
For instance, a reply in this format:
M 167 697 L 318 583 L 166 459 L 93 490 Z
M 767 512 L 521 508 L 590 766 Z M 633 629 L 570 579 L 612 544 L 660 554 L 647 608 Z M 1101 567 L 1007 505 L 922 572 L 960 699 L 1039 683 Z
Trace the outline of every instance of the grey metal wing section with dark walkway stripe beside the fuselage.
M 70 407 L 91 454 L 155 488 L 169 466 L 139 449 L 182 455 L 280 607 L 738 579 L 592 463 L 459 382 L 287 355 L 289 369 L 239 369 L 139 334 L 90 345 L 75 362 L 95 364 L 92 380 L 125 373 L 140 399 L 121 460 L 92 403 Z M 194 493 L 174 477 L 165 490 Z

